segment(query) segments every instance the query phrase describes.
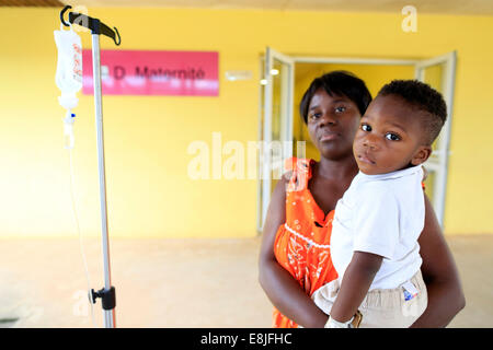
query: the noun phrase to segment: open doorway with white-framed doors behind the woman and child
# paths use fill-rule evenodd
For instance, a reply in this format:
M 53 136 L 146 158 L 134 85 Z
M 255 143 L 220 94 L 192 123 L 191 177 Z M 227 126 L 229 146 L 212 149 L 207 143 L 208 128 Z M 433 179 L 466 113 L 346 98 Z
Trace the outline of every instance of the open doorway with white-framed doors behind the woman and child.
M 259 160 L 257 232 L 262 232 L 271 195 L 280 178 L 285 160 L 305 152 L 303 158 L 319 161 L 299 115 L 299 103 L 314 78 L 333 70 L 346 70 L 363 79 L 374 97 L 393 79 L 417 79 L 444 95 L 447 121 L 433 144 L 432 156 L 424 164 L 428 172 L 426 195 L 443 226 L 456 60 L 456 51 L 431 59 L 408 60 L 288 56 L 267 47 L 261 59 L 259 139 L 264 148 Z M 276 141 L 283 147 L 273 148 Z

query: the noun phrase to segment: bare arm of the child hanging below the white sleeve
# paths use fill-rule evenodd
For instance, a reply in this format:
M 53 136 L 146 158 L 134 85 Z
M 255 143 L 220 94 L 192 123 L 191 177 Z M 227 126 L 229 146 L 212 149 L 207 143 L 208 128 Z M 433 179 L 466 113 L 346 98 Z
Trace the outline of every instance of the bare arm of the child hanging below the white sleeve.
M 331 318 L 344 323 L 356 314 L 380 269 L 381 260 L 382 257 L 376 254 L 354 252 L 332 306 Z

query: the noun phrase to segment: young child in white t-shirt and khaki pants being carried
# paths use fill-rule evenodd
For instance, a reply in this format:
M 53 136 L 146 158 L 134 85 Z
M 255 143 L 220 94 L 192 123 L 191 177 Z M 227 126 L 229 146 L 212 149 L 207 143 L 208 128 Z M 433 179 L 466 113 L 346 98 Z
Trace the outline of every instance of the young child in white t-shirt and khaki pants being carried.
M 325 327 L 410 327 L 425 311 L 421 164 L 446 117 L 442 95 L 415 80 L 392 81 L 368 106 L 353 144 L 359 173 L 332 223 L 339 278 L 312 294 Z

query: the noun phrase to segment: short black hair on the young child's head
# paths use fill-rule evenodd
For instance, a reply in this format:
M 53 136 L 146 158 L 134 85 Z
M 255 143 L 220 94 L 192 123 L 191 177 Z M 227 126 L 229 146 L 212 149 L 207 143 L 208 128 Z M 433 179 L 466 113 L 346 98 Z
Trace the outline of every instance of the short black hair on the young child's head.
M 425 112 L 424 141 L 432 144 L 447 119 L 447 105 L 442 94 L 417 80 L 392 80 L 379 91 L 377 97 L 387 95 L 400 96 L 411 106 Z

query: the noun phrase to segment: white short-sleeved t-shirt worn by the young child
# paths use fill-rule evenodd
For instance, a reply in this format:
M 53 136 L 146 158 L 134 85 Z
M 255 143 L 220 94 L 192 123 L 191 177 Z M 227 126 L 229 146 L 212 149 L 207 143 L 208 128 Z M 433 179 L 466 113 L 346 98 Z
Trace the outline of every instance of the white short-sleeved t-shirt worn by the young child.
M 369 290 L 398 288 L 417 272 L 425 215 L 422 180 L 421 165 L 354 177 L 332 222 L 331 256 L 341 281 L 353 252 L 383 257 Z

